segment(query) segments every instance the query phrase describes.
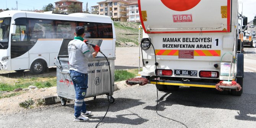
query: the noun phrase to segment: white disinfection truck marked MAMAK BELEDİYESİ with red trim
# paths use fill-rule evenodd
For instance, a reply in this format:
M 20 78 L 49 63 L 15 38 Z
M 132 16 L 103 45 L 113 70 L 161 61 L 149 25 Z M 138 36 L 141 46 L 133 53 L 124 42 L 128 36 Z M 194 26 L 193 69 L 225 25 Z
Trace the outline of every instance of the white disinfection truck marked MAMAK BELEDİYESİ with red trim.
M 215 88 L 220 81 L 243 86 L 239 34 L 247 29 L 247 18 L 238 12 L 238 0 L 138 0 L 138 5 L 144 30 L 139 74 L 158 90 Z M 222 89 L 235 96 L 243 92 Z

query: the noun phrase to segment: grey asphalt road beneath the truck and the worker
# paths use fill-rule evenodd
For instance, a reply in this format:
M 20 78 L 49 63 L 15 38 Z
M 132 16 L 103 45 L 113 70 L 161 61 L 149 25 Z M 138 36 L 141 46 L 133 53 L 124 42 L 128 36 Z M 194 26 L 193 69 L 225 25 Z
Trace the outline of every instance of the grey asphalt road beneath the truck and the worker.
M 185 123 L 188 128 L 255 128 L 256 48 L 245 48 L 245 78 L 242 96 L 220 95 L 215 89 L 180 87 L 175 92 L 158 92 L 158 112 Z M 153 84 L 115 91 L 115 102 L 98 128 L 185 128 L 181 123 L 156 113 L 157 90 Z M 11 104 L 11 102 L 10 102 Z M 107 110 L 108 100 L 86 99 L 92 111 L 86 122 L 73 122 L 73 105 L 47 105 L 39 109 L 0 115 L 0 128 L 94 128 Z

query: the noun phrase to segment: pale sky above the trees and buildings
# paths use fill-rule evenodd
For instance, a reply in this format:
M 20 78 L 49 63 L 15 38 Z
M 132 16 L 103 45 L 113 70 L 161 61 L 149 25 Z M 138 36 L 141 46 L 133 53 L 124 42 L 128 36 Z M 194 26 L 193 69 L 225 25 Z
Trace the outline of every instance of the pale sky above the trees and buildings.
M 0 0 L 2 1 L 0 8 L 6 9 L 16 8 L 16 1 L 18 1 L 18 10 L 41 10 L 44 5 L 48 5 L 52 3 L 55 6 L 54 2 L 58 2 L 60 0 Z M 88 2 L 88 9 L 91 6 L 98 5 L 97 2 L 101 2 L 104 0 L 78 0 L 83 2 L 83 9 L 86 8 L 86 3 Z M 159 0 L 160 1 L 160 0 Z M 243 2 L 243 15 L 248 17 L 248 21 L 253 20 L 256 15 L 256 0 L 238 0 Z M 241 6 L 241 4 L 239 4 Z

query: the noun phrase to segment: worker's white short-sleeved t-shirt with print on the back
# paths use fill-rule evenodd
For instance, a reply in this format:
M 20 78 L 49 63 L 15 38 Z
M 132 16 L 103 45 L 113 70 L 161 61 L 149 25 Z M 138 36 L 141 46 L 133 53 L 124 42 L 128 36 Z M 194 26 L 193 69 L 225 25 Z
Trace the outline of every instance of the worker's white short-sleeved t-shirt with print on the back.
M 87 45 L 79 39 L 74 39 L 68 43 L 68 60 L 70 70 L 75 70 L 80 73 L 88 72 L 88 60 L 84 55 L 84 53 L 87 52 L 90 53 Z

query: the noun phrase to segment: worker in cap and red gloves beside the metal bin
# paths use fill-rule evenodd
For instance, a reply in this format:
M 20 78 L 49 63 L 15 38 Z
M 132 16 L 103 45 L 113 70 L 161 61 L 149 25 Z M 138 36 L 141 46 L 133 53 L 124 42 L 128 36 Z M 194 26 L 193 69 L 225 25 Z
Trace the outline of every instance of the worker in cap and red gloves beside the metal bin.
M 75 29 L 74 40 L 68 43 L 68 60 L 70 64 L 70 78 L 73 81 L 76 98 L 75 98 L 75 116 L 73 121 L 85 121 L 88 120 L 88 115 L 91 115 L 91 111 L 86 110 L 86 104 L 84 97 L 86 95 L 86 89 L 88 88 L 88 61 L 96 57 L 100 50 L 100 47 L 96 45 L 94 52 L 90 52 L 84 39 L 84 28 L 81 26 Z

